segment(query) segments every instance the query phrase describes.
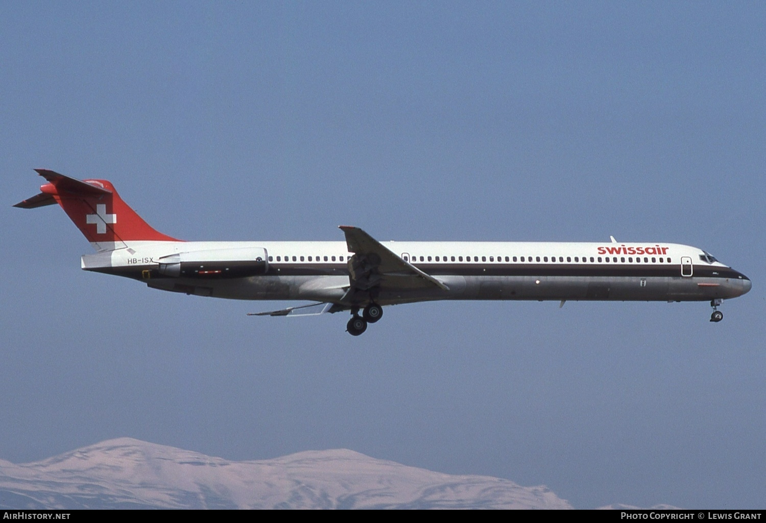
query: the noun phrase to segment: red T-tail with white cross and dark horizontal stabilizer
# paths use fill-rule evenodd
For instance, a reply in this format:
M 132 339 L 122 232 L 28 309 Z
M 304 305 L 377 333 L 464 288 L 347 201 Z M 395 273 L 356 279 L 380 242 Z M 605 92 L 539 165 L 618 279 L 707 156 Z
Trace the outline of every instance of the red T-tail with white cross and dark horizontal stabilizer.
M 146 223 L 107 180 L 77 180 L 35 169 L 47 180 L 40 193 L 15 205 L 34 209 L 58 203 L 97 251 L 123 249 L 136 241 L 179 242 Z

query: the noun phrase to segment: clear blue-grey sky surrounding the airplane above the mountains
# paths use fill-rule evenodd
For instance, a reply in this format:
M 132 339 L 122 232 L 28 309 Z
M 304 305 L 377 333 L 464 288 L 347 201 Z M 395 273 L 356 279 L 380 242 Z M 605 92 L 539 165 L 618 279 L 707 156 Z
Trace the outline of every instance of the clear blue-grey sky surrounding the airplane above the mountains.
M 0 459 L 129 436 L 229 459 L 345 447 L 578 508 L 763 508 L 758 2 L 0 5 Z M 678 242 L 700 304 L 282 304 L 80 271 L 46 167 L 182 239 Z

